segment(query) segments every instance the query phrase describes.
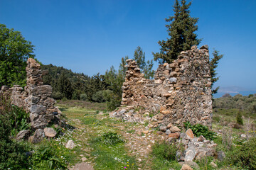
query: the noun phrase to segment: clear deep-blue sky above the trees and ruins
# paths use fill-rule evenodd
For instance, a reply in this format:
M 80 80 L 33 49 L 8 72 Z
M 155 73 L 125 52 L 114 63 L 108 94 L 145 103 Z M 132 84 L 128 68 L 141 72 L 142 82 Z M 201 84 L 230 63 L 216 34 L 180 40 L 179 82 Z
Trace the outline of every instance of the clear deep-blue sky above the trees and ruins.
M 151 60 L 168 37 L 166 0 L 0 0 L 0 23 L 21 31 L 36 46 L 36 58 L 73 72 L 105 74 L 139 45 Z M 193 0 L 198 38 L 219 50 L 218 86 L 256 90 L 256 1 Z M 157 68 L 155 62 L 154 69 Z

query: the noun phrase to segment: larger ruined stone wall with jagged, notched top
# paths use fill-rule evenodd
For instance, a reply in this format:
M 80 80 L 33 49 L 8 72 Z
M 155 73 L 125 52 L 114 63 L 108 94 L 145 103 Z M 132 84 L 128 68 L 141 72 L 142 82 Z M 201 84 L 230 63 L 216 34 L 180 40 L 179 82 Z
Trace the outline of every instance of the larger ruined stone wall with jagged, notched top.
M 111 113 L 149 127 L 190 121 L 211 127 L 212 96 L 208 45 L 181 52 L 171 64 L 159 65 L 154 80 L 144 79 L 137 63 L 127 60 L 122 106 Z

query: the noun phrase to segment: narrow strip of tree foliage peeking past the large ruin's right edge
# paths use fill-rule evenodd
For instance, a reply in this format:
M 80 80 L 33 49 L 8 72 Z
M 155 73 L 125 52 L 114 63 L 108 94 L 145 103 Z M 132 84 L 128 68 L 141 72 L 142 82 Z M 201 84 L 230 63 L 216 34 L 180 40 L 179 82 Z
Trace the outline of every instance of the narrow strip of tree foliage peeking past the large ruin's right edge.
M 213 58 L 210 60 L 210 76 L 211 76 L 211 89 L 212 94 L 217 94 L 218 89 L 220 87 L 218 86 L 216 89 L 213 89 L 213 84 L 218 81 L 220 77 L 217 77 L 216 68 L 218 67 L 219 60 L 223 57 L 223 55 L 219 55 L 219 52 L 217 50 L 213 51 Z

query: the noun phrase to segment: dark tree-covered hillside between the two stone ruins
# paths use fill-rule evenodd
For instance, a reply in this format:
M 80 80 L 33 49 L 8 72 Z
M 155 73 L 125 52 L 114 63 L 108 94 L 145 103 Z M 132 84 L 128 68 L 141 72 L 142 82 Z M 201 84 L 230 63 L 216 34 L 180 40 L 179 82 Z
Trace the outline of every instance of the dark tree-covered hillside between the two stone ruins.
M 105 82 L 105 76 L 100 73 L 90 77 L 53 64 L 42 65 L 42 69 L 48 70 L 48 74 L 43 77 L 43 83 L 53 87 L 55 99 L 103 102 L 99 91 L 107 90 L 107 86 L 110 86 Z

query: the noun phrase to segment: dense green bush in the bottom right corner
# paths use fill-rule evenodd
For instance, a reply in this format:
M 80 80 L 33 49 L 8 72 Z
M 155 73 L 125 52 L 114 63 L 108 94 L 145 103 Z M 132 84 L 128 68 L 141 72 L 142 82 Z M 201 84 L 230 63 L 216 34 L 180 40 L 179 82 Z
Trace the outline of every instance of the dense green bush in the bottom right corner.
M 243 169 L 256 169 L 256 138 L 245 142 L 233 154 L 233 164 L 242 166 Z

